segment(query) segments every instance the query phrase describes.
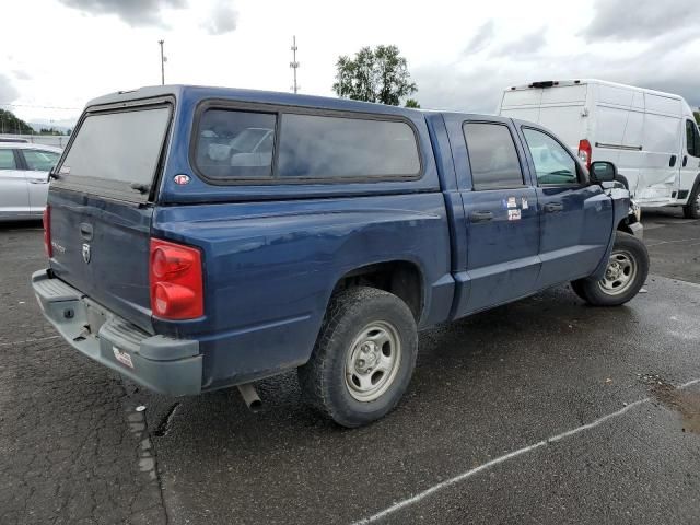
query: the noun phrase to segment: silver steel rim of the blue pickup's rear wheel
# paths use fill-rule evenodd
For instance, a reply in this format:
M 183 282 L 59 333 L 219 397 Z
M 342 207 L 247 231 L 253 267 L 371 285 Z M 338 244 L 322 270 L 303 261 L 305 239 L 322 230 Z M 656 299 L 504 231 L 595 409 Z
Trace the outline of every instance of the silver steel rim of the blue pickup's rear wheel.
M 401 363 L 401 342 L 397 329 L 378 320 L 365 326 L 350 347 L 346 359 L 346 386 L 358 401 L 373 401 L 384 394 Z

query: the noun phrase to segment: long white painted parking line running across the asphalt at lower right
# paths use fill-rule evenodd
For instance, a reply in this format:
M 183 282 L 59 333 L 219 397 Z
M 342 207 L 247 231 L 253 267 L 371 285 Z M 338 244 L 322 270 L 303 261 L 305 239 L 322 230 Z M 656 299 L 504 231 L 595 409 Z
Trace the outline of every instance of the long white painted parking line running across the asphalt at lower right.
M 689 381 L 687 383 L 684 383 L 682 385 L 678 386 L 678 389 L 684 389 L 687 388 L 691 385 L 695 385 L 697 383 L 700 383 L 700 378 L 697 380 L 692 380 Z M 394 514 L 395 512 L 398 512 L 402 509 L 406 509 L 407 506 L 410 506 L 415 503 L 418 503 L 419 501 L 428 498 L 431 494 L 434 494 L 435 492 L 441 491 L 442 489 L 446 489 L 447 487 L 451 487 L 453 485 L 456 485 L 460 481 L 464 481 L 465 479 L 468 479 L 472 476 L 476 476 L 479 472 L 482 472 L 483 470 L 488 470 L 491 467 L 494 467 L 495 465 L 499 465 L 501 463 L 508 462 L 509 459 L 513 459 L 514 457 L 521 456 L 523 454 L 526 454 L 528 452 L 532 452 L 536 448 L 540 448 L 549 443 L 556 443 L 558 441 L 561 440 L 565 440 L 567 438 L 570 438 L 572 435 L 578 434 L 579 432 L 583 432 L 585 430 L 591 430 L 591 429 L 595 429 L 596 427 L 598 427 L 599 424 L 605 423 L 606 421 L 609 421 L 610 419 L 617 418 L 622 416 L 623 413 L 628 412 L 629 410 L 631 410 L 632 408 L 639 407 L 640 405 L 644 405 L 645 402 L 651 401 L 652 398 L 651 397 L 645 397 L 644 399 L 639 399 L 637 401 L 632 401 L 629 405 L 626 405 L 625 407 L 622 407 L 621 409 L 608 413 L 607 416 L 603 416 L 602 418 L 596 419 L 595 421 L 592 421 L 590 423 L 586 423 L 584 425 L 578 427 L 575 429 L 572 430 L 568 430 L 565 432 L 562 432 L 561 434 L 557 434 L 553 435 L 551 438 L 548 438 L 546 440 L 542 441 L 538 441 L 537 443 L 533 444 L 533 445 L 528 445 L 525 446 L 523 448 L 518 448 L 517 451 L 511 452 L 509 454 L 505 454 L 503 456 L 497 457 L 495 459 L 491 459 L 490 462 L 485 463 L 483 465 L 479 465 L 476 468 L 472 468 L 471 470 L 467 470 L 466 472 L 463 472 L 458 476 L 455 476 L 454 478 L 451 479 L 446 479 L 445 481 L 442 481 L 438 485 L 434 485 L 433 487 L 431 487 L 430 489 L 423 490 L 422 492 L 419 492 L 418 494 L 408 498 L 406 500 L 399 501 L 398 503 L 393 504 L 392 506 L 383 510 L 382 512 L 377 512 L 376 514 L 370 516 L 370 517 L 365 517 L 363 520 L 360 520 L 358 522 L 353 522 L 352 525 L 365 525 L 369 523 L 374 523 L 377 522 L 386 516 L 388 516 L 389 514 Z

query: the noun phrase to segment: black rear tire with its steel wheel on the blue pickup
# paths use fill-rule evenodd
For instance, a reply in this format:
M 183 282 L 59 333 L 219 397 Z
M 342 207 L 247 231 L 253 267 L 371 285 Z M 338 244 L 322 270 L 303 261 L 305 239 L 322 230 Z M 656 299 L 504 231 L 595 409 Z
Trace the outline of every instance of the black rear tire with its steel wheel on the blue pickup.
M 398 343 L 392 347 L 386 342 L 378 347 L 370 341 L 373 351 L 376 352 L 380 348 L 384 355 L 388 350 L 389 357 L 390 352 L 394 352 L 394 359 L 397 361 L 385 380 L 380 376 L 380 381 L 385 381 L 385 389 L 380 388 L 373 393 L 378 397 L 358 400 L 357 397 L 362 393 L 353 389 L 359 389 L 361 385 L 359 376 L 353 374 L 357 370 L 351 369 L 348 361 L 352 362 L 352 366 L 358 363 L 366 364 L 365 361 L 353 360 L 352 357 L 361 358 L 362 354 L 359 352 L 369 348 L 365 346 L 369 339 L 362 339 L 363 336 L 377 337 L 373 336 L 374 332 L 371 330 L 375 326 L 385 327 L 387 334 Z M 342 427 L 368 424 L 385 416 L 398 404 L 413 374 L 417 352 L 416 320 L 404 301 L 374 288 L 358 287 L 341 291 L 330 300 L 311 359 L 298 371 L 302 394 L 306 402 Z M 366 373 L 366 370 L 362 370 L 363 377 L 370 380 L 370 383 L 365 384 L 375 388 L 371 383 L 374 375 Z M 371 368 L 369 370 L 372 372 Z M 348 378 L 347 371 L 351 373 Z M 375 371 L 374 374 L 378 372 Z M 354 387 L 351 386 L 350 382 L 355 381 L 358 383 L 353 383 Z

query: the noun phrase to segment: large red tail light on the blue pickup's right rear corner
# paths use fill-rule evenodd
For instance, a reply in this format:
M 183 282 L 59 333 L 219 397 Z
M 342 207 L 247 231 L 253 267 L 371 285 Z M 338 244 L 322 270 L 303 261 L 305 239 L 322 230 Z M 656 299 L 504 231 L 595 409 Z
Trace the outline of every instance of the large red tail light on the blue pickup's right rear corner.
M 172 320 L 205 314 L 201 254 L 191 246 L 151 240 L 151 310 Z

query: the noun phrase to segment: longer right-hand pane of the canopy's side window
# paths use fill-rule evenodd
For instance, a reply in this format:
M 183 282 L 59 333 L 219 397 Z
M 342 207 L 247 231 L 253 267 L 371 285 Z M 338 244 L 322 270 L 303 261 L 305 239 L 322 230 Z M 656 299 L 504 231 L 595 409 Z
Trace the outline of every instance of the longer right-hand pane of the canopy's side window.
M 285 114 L 280 178 L 390 178 L 420 175 L 412 128 L 404 121 Z

